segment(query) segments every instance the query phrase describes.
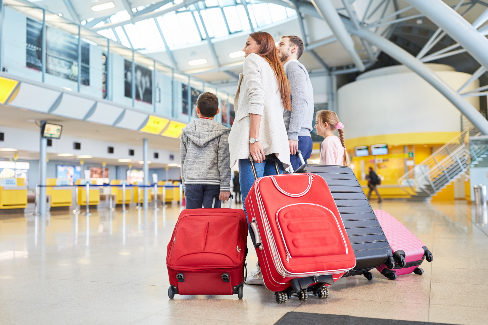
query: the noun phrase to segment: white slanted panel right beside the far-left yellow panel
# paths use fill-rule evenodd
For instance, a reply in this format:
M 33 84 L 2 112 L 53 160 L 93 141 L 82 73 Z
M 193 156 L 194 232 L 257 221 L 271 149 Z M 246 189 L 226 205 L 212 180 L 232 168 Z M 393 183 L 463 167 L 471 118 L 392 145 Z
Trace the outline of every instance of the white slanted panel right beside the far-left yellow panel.
M 56 99 L 61 95 L 61 91 L 35 86 L 30 83 L 21 82 L 19 93 L 9 105 L 27 108 L 38 112 L 47 113 Z

